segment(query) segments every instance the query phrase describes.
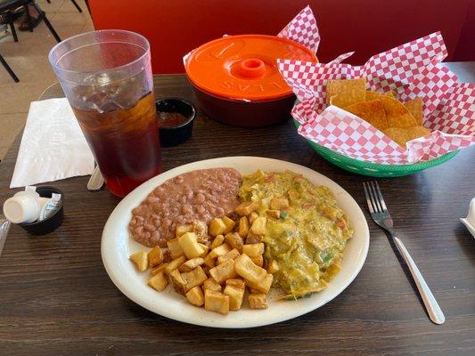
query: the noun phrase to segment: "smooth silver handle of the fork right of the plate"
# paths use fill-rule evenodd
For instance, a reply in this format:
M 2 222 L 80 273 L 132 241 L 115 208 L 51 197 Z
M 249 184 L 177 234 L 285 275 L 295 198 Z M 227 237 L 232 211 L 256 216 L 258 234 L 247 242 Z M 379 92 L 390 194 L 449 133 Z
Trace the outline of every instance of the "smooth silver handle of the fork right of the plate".
M 434 295 L 432 295 L 430 287 L 427 285 L 425 279 L 422 277 L 421 272 L 415 265 L 413 258 L 411 257 L 411 255 L 409 255 L 409 252 L 405 248 L 403 241 L 397 238 L 397 236 L 393 236 L 393 239 L 396 243 L 397 249 L 403 256 L 405 263 L 407 263 L 407 265 L 409 266 L 409 271 L 411 271 L 411 275 L 413 276 L 415 285 L 417 286 L 417 289 L 419 290 L 419 293 L 422 296 L 422 301 L 424 302 L 425 308 L 429 313 L 430 320 L 432 320 L 436 324 L 444 324 L 444 322 L 446 321 L 446 317 L 438 306 L 436 298 L 434 297 Z

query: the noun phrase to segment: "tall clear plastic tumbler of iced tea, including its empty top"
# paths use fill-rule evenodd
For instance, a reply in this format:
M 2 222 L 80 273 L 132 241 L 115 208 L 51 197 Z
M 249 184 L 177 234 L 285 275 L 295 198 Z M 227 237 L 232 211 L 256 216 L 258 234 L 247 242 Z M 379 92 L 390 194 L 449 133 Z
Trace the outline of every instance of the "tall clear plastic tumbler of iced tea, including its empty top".
M 108 189 L 125 197 L 161 172 L 150 44 L 107 29 L 56 44 L 49 60 Z

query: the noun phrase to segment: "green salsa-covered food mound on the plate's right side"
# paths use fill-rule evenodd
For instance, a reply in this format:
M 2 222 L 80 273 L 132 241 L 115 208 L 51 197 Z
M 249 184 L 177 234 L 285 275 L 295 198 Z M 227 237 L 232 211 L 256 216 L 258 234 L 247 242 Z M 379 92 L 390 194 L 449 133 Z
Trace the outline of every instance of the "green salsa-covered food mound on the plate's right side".
M 299 298 L 322 290 L 340 271 L 340 260 L 353 229 L 348 217 L 324 186 L 316 187 L 300 174 L 290 171 L 244 175 L 240 198 L 259 203 L 258 214 L 266 216 L 266 262 L 274 260 L 274 287 L 287 298 Z M 268 210 L 273 199 L 286 200 L 279 217 Z

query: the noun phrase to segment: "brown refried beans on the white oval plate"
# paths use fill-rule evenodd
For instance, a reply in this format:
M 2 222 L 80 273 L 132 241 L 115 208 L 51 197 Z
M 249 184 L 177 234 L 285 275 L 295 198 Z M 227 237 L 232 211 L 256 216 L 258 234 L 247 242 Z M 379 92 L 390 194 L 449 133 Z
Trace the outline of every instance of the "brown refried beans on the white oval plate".
M 166 247 L 177 225 L 231 214 L 239 205 L 241 174 L 233 168 L 201 169 L 177 175 L 155 188 L 132 210 L 129 229 L 147 247 Z

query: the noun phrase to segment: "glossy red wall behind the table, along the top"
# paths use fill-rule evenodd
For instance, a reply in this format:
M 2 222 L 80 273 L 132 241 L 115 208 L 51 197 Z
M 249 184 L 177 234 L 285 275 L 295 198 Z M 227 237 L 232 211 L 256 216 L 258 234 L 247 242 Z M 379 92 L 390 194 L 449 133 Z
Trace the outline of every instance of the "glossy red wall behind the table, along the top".
M 475 0 L 89 0 L 96 29 L 125 28 L 150 40 L 154 73 L 184 72 L 185 53 L 224 34 L 276 35 L 307 4 L 320 28 L 320 61 L 356 51 L 348 62 L 363 64 L 372 54 L 437 30 L 442 31 L 446 41 L 446 61 L 474 61 L 470 34 L 475 26 L 474 3 Z

